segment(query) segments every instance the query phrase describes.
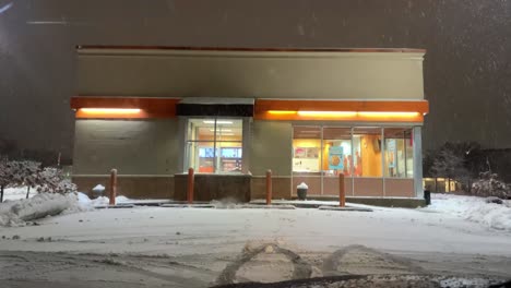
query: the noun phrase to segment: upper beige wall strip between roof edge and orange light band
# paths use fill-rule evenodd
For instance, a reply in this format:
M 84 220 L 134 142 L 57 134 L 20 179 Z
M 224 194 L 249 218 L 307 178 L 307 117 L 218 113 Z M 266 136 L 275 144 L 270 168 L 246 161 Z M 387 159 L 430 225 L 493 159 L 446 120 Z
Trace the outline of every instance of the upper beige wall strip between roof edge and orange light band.
M 423 52 L 80 49 L 84 96 L 423 99 Z

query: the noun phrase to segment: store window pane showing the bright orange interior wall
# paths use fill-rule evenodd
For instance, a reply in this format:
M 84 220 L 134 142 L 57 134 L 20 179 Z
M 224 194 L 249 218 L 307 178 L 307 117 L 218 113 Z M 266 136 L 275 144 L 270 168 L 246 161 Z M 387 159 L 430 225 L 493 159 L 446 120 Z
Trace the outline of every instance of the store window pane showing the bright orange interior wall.
M 355 128 L 353 130 L 353 176 L 382 176 L 381 128 Z

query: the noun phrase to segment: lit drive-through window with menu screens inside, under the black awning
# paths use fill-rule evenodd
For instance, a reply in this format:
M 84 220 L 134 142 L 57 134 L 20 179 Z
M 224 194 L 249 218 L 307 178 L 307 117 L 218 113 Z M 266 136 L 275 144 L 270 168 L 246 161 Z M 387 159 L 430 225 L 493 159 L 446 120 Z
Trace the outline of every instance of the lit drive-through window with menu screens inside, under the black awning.
M 241 172 L 241 119 L 190 119 L 187 136 L 188 165 L 195 171 Z

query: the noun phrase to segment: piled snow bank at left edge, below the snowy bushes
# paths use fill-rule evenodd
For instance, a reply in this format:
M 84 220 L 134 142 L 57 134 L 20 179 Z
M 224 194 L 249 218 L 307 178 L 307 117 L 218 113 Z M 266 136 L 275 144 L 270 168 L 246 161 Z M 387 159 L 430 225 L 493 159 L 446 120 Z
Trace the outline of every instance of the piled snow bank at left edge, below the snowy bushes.
M 23 226 L 25 221 L 91 209 L 92 206 L 79 202 L 80 195 L 69 193 L 40 193 L 27 200 L 7 201 L 0 204 L 0 226 Z

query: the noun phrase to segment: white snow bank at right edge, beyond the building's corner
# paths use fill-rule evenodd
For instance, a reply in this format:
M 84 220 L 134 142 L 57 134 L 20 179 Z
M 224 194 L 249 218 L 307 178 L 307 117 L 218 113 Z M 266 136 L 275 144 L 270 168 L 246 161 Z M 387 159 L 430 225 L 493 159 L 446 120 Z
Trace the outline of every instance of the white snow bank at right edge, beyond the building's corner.
M 490 228 L 511 231 L 511 202 L 486 203 L 485 197 L 431 194 L 431 205 L 425 211 L 449 213 Z

